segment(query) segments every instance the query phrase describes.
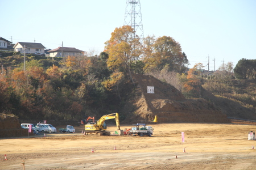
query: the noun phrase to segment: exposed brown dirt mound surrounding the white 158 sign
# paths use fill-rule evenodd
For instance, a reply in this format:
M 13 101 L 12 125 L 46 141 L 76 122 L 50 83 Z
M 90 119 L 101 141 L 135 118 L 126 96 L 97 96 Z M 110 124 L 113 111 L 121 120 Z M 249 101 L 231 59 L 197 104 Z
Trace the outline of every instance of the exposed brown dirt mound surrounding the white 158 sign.
M 187 100 L 175 87 L 163 83 L 153 76 L 133 74 L 137 83 L 137 99 L 134 113 L 128 122 L 230 122 L 220 109 L 204 99 Z M 147 86 L 154 86 L 155 93 L 148 94 Z

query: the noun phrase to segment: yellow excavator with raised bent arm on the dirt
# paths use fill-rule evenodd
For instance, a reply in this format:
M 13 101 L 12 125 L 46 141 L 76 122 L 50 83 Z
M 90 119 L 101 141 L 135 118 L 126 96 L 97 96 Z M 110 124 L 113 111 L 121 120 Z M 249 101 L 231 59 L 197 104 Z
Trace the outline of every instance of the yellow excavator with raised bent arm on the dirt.
M 117 124 L 117 133 L 123 135 L 123 130 L 120 129 L 118 113 L 106 114 L 100 118 L 96 123 L 85 125 L 85 135 L 110 135 L 110 131 L 106 131 L 105 120 L 115 119 Z

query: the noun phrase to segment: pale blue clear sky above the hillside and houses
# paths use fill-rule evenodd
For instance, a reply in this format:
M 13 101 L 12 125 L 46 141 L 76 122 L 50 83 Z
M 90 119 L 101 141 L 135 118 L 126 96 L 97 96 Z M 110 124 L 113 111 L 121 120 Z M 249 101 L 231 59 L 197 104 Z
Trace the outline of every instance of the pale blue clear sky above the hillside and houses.
M 125 19 L 126 0 L 0 0 L 0 36 L 46 48 L 75 47 L 100 53 Z M 255 0 L 141 0 L 144 37 L 180 42 L 193 67 L 208 70 L 242 58 L 256 59 Z

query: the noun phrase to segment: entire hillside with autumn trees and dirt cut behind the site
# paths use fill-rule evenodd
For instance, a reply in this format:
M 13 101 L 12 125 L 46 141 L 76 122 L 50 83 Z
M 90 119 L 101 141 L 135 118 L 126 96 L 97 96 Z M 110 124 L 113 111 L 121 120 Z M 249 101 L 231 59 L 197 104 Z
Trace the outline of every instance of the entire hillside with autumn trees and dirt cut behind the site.
M 229 62 L 207 75 L 202 63 L 188 69 L 187 56 L 172 37 L 141 42 L 130 39 L 133 33 L 127 25 L 115 28 L 99 56 L 4 53 L 0 113 L 23 120 L 79 121 L 115 112 L 130 122 L 152 121 L 155 115 L 162 122 L 256 120 L 256 60 L 241 59 L 235 74 Z M 156 93 L 147 94 L 147 86 Z

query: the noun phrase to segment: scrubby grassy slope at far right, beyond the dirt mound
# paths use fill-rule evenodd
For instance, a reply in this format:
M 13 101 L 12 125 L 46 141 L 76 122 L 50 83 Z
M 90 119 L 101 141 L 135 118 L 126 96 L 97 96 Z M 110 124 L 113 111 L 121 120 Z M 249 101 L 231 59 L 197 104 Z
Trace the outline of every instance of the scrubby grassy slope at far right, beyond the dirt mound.
M 256 120 L 256 80 L 209 80 L 204 98 L 229 117 Z M 208 95 L 212 92 L 213 95 Z

